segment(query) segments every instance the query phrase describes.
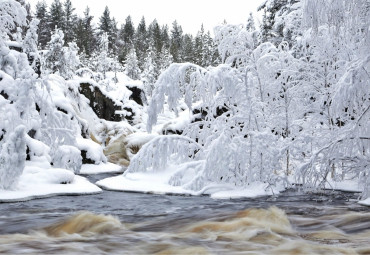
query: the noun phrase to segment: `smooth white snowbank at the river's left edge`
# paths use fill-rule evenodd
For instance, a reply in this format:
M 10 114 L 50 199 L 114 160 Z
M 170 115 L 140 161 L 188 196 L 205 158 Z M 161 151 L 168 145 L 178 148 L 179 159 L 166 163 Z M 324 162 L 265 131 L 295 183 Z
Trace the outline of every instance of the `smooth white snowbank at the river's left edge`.
M 28 201 L 56 195 L 87 195 L 102 190 L 86 178 L 61 168 L 37 166 L 27 162 L 14 190 L 0 190 L 0 202 Z

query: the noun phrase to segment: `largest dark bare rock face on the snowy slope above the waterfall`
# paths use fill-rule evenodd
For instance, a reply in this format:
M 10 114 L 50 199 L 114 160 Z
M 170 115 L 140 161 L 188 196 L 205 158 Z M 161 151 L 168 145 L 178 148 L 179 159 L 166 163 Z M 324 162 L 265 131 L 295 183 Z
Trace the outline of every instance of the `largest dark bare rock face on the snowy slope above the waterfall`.
M 109 121 L 122 120 L 122 116 L 115 113 L 121 110 L 121 107 L 116 106 L 113 100 L 106 97 L 99 88 L 89 83 L 81 83 L 80 92 L 90 100 L 90 107 L 100 119 Z

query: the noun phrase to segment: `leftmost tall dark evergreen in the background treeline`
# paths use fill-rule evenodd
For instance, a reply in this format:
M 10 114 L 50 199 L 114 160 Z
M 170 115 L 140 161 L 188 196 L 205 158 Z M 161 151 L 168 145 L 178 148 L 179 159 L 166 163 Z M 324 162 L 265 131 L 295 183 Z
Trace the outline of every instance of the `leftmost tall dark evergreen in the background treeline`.
M 36 18 L 40 21 L 38 25 L 38 40 L 41 48 L 45 48 L 46 44 L 50 41 L 50 29 L 49 29 L 49 14 L 47 11 L 47 5 L 45 0 L 37 2 L 36 4 Z

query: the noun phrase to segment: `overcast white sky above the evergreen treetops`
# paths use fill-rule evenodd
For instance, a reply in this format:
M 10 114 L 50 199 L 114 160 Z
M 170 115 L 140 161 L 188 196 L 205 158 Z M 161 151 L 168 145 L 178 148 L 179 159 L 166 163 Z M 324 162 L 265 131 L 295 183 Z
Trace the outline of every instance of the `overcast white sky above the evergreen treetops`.
M 34 10 L 38 0 L 26 1 Z M 52 2 L 46 0 L 48 6 Z M 249 13 L 255 13 L 261 2 L 263 0 L 72 0 L 78 15 L 82 15 L 89 6 L 95 23 L 108 6 L 111 17 L 115 17 L 119 24 L 124 23 L 128 15 L 131 15 L 135 27 L 142 16 L 147 25 L 156 18 L 160 25 L 168 24 L 170 28 L 172 22 L 177 20 L 185 33 L 192 34 L 199 31 L 202 23 L 205 30 L 211 32 L 224 20 L 230 24 L 245 24 Z

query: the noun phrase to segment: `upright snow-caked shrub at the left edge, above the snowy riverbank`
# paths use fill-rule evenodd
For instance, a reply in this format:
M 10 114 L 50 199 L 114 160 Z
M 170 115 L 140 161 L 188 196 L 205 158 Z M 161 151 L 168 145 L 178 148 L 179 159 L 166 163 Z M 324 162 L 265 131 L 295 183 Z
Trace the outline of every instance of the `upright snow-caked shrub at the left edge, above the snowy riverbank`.
M 12 189 L 26 160 L 25 127 L 18 126 L 5 138 L 0 150 L 0 189 Z

